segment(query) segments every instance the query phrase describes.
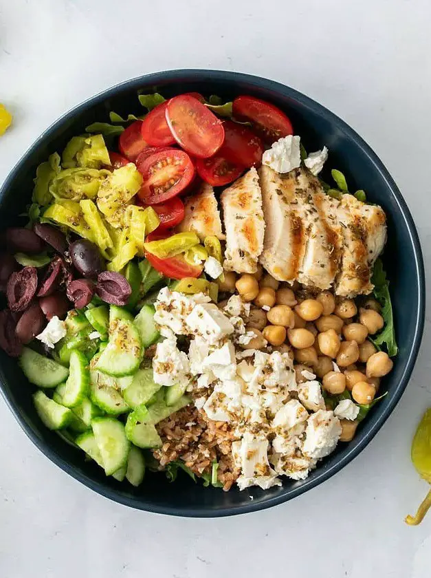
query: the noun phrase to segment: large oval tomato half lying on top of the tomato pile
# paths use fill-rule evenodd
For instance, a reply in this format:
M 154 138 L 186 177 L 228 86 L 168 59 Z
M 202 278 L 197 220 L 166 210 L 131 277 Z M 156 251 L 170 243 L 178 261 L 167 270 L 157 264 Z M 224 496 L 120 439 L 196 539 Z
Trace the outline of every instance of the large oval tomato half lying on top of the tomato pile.
M 193 96 L 181 94 L 168 100 L 166 120 L 179 146 L 193 156 L 208 158 L 223 144 L 223 123 Z

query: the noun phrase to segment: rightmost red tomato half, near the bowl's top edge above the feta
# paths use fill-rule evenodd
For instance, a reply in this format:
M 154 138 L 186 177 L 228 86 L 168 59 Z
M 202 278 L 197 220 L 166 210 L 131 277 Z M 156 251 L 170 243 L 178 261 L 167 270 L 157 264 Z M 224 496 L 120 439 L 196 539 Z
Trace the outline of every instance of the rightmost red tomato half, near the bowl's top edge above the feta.
M 294 133 L 291 122 L 284 112 L 254 96 L 237 96 L 233 103 L 233 113 L 238 120 L 251 122 L 254 131 L 265 142 L 272 143 Z

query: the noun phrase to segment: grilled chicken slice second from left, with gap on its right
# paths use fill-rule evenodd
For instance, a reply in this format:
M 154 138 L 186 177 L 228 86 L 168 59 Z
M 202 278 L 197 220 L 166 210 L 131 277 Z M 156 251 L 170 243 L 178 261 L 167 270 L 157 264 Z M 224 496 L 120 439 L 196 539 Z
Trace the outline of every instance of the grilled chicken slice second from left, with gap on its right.
M 265 232 L 256 169 L 247 171 L 221 193 L 221 206 L 226 232 L 223 267 L 238 273 L 255 273 Z

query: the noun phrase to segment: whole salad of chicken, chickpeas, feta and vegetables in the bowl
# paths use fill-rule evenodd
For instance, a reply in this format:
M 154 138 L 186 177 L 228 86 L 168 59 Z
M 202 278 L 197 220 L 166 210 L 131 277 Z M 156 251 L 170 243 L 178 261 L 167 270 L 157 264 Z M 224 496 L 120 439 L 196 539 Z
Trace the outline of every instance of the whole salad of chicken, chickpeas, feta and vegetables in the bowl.
M 139 98 L 38 167 L 4 234 L 0 347 L 119 483 L 304 480 L 385 395 L 386 215 L 265 100 Z

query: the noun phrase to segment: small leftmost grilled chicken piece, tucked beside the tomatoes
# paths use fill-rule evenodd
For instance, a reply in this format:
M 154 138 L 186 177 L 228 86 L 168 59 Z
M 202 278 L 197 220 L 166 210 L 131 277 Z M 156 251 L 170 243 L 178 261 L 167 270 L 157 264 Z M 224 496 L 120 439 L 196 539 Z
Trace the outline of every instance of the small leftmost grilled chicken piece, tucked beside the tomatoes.
M 203 241 L 208 235 L 220 240 L 225 238 L 221 229 L 221 218 L 217 199 L 212 186 L 204 182 L 199 193 L 184 201 L 184 220 L 177 226 L 177 231 L 193 231 Z

